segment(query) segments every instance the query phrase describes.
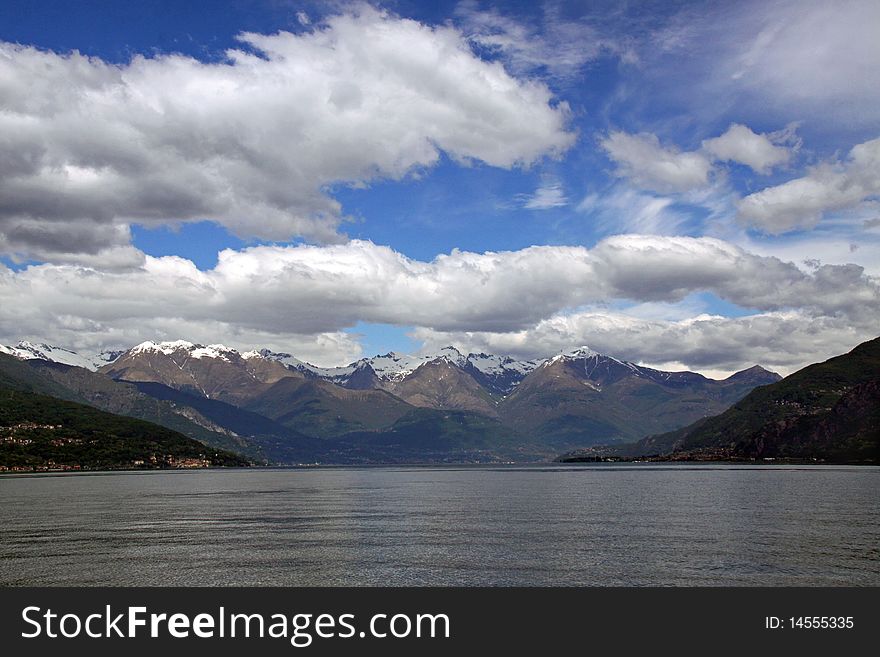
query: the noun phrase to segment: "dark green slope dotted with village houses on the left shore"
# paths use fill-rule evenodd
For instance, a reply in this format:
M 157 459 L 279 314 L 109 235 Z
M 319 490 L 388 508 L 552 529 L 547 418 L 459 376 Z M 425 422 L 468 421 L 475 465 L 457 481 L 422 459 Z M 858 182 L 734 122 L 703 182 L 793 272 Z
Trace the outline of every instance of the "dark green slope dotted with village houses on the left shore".
M 242 457 L 149 422 L 0 386 L 0 467 L 246 465 Z

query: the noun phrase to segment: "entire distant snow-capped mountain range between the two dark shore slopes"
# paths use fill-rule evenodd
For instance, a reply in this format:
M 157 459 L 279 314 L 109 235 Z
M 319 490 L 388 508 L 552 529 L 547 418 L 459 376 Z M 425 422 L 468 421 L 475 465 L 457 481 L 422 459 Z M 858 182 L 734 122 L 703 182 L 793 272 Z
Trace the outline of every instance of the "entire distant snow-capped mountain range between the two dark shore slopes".
M 780 378 L 756 366 L 716 381 L 588 348 L 516 360 L 447 347 L 336 368 L 182 340 L 95 356 L 0 351 L 56 396 L 277 463 L 542 459 L 678 429 Z

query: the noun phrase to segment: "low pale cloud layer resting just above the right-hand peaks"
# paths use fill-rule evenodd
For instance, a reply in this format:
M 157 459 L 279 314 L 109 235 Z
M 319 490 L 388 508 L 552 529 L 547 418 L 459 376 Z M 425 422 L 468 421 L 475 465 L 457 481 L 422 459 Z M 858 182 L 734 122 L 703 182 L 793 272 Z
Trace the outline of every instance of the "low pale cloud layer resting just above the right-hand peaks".
M 839 317 L 816 318 L 797 311 L 662 320 L 592 310 L 560 314 L 520 331 L 417 329 L 412 337 L 422 340 L 428 350 L 454 344 L 465 351 L 522 358 L 589 345 L 600 353 L 658 369 L 690 369 L 723 377 L 756 364 L 787 375 L 849 351 L 877 334 L 876 322 L 853 324 Z

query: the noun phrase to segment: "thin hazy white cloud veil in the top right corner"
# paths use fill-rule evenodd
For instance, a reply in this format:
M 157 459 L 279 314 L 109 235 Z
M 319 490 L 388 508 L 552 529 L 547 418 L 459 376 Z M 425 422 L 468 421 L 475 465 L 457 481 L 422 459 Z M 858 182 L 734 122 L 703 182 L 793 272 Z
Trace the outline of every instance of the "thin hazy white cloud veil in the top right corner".
M 705 120 L 733 108 L 739 120 L 794 117 L 826 131 L 873 127 L 878 24 L 875 0 L 684 3 L 640 40 L 646 77 L 638 90 Z

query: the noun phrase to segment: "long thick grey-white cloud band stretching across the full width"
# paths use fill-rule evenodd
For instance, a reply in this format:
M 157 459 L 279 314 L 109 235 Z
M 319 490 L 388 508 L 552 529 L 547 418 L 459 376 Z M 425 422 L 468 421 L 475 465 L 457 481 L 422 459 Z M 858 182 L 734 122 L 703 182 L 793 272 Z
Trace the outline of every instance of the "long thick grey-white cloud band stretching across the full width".
M 183 337 L 296 351 L 285 346 L 289 342 L 306 345 L 309 358 L 326 363 L 330 353 L 355 349 L 354 339 L 340 331 L 363 321 L 415 326 L 419 335 L 524 332 L 528 339 L 536 336 L 535 351 L 546 352 L 550 343 L 534 331 L 558 326 L 558 319 L 547 324 L 552 318 L 614 300 L 676 303 L 700 291 L 759 316 L 795 312 L 804 322 L 799 330 L 817 340 L 829 326 L 876 327 L 880 319 L 878 281 L 856 265 L 803 271 L 716 239 L 618 235 L 592 249 L 453 251 L 429 262 L 352 241 L 226 250 L 209 271 L 173 256 L 145 256 L 143 267 L 119 271 L 49 264 L 19 272 L 0 268 L 0 338 L 58 336 L 77 347 Z M 740 349 L 736 344 L 745 334 L 730 331 L 724 338 L 723 326 L 717 340 L 726 339 L 728 351 Z M 559 336 L 553 344 L 591 343 L 586 329 L 553 331 Z M 636 334 L 632 329 L 633 343 Z M 760 330 L 748 335 L 757 341 Z M 308 336 L 316 337 L 310 342 Z M 611 348 L 612 333 L 608 336 L 608 351 L 619 353 Z M 666 359 L 688 350 L 696 354 L 693 340 L 675 344 L 669 338 L 662 344 Z M 767 344 L 766 349 L 778 346 Z M 710 351 L 706 347 L 702 360 L 692 356 L 689 362 L 710 363 Z M 658 347 L 653 356 L 645 351 L 632 357 L 656 359 L 661 353 Z M 724 353 L 718 351 L 715 365 L 732 362 Z

